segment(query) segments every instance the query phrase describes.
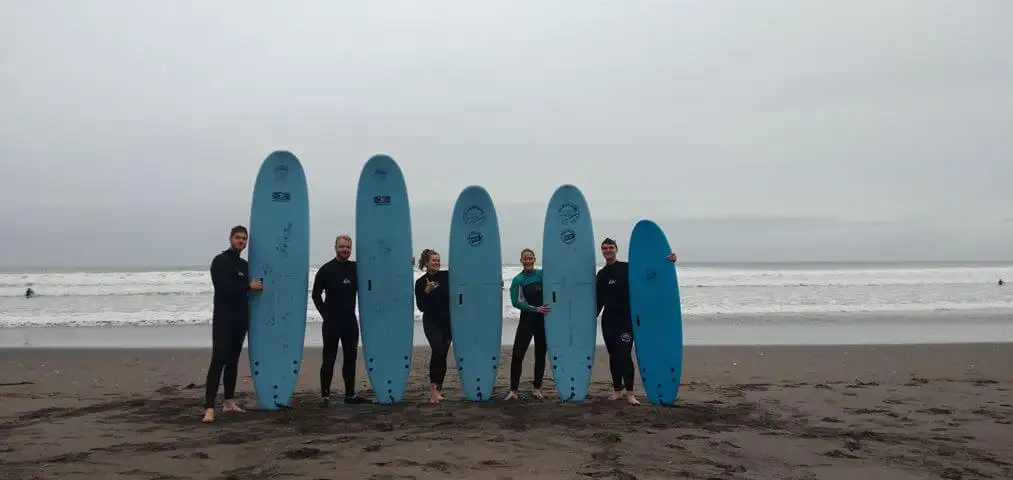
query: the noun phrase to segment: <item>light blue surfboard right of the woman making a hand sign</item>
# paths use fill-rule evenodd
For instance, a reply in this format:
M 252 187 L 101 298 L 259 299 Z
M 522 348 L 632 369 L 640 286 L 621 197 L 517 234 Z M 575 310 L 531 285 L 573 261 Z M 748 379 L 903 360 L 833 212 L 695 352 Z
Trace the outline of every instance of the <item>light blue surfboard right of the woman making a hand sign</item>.
M 503 294 L 499 219 L 489 192 L 461 191 L 450 222 L 450 325 L 468 400 L 492 397 L 502 347 Z

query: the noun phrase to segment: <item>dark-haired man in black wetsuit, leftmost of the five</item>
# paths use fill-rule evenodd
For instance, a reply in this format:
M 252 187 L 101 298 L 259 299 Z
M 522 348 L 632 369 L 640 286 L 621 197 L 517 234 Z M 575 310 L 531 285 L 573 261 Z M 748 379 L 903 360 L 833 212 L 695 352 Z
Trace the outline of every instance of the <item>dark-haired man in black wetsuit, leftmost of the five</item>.
M 241 225 L 229 232 L 229 248 L 211 261 L 211 283 L 215 289 L 214 312 L 211 317 L 211 367 L 204 398 L 204 421 L 215 421 L 215 397 L 218 383 L 225 372 L 225 398 L 222 411 L 242 412 L 236 405 L 236 376 L 239 354 L 249 329 L 249 303 L 247 294 L 263 289 L 259 281 L 250 281 L 249 264 L 240 253 L 246 248 L 249 233 Z

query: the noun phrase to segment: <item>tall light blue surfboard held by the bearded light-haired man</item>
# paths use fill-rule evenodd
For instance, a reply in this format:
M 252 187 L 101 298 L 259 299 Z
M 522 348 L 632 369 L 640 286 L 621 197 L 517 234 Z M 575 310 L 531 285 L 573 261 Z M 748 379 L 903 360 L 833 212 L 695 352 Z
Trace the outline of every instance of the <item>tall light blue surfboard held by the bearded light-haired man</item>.
M 378 403 L 397 403 L 411 372 L 414 277 L 408 189 L 401 167 L 386 155 L 371 157 L 359 175 L 356 236 L 366 374 Z

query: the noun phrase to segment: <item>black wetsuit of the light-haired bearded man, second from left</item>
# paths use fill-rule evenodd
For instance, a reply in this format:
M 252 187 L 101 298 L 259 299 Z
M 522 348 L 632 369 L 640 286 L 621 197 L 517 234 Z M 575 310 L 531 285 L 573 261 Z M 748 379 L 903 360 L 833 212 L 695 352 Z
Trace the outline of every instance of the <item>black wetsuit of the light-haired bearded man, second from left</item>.
M 341 378 L 344 397 L 356 397 L 356 361 L 359 354 L 359 319 L 356 318 L 356 294 L 359 281 L 356 262 L 331 259 L 313 278 L 313 305 L 323 318 L 323 363 L 320 365 L 320 395 L 330 397 L 337 346 L 342 348 Z M 325 295 L 324 295 L 325 294 Z

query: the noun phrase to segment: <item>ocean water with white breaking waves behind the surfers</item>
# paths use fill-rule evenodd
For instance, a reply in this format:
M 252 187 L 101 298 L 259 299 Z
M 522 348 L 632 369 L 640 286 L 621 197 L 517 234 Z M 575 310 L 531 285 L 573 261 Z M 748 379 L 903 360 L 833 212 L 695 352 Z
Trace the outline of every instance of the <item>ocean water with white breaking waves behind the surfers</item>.
M 519 271 L 520 266 L 505 266 L 504 285 Z M 314 267 L 311 279 L 315 272 Z M 694 329 L 722 325 L 739 327 L 742 332 L 771 324 L 843 328 L 856 318 L 878 318 L 879 323 L 897 318 L 939 323 L 925 319 L 976 315 L 985 315 L 991 323 L 1013 319 L 1013 287 L 998 286 L 999 278 L 1013 279 L 1013 264 L 686 264 L 679 268 L 688 337 Z M 37 297 L 24 298 L 28 287 Z M 0 335 L 38 327 L 58 332 L 75 327 L 173 331 L 166 328 L 210 324 L 211 307 L 206 267 L 0 272 Z M 518 311 L 506 290 L 503 318 L 504 337 L 512 336 Z M 420 324 L 417 311 L 415 319 Z M 320 322 L 312 302 L 308 320 Z

